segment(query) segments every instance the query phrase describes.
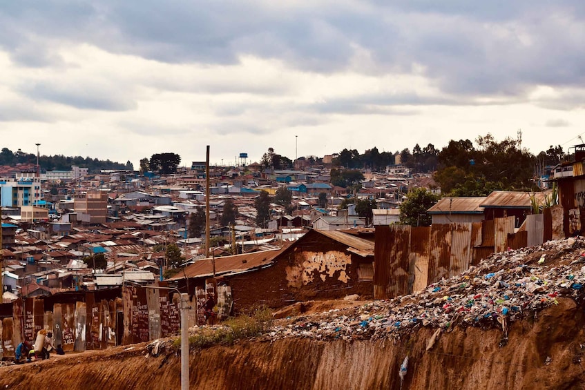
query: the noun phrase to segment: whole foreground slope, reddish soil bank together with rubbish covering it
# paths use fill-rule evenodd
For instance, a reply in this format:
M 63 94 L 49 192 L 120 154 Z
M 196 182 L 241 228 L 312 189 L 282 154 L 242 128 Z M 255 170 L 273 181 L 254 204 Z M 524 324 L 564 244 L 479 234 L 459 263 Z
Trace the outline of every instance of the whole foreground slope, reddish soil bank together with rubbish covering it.
M 191 388 L 585 389 L 584 252 L 548 242 L 394 300 L 301 305 L 253 340 L 192 349 Z M 0 387 L 178 388 L 171 344 L 1 367 Z

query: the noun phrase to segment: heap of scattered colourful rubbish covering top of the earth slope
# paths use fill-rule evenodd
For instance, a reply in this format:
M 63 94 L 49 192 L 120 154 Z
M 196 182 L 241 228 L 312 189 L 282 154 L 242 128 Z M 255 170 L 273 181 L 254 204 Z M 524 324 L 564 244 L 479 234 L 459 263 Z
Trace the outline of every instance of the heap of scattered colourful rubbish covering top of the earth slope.
M 558 304 L 580 300 L 585 286 L 585 238 L 495 253 L 478 266 L 419 293 L 374 301 L 349 313 L 334 309 L 275 326 L 265 338 L 400 338 L 420 326 L 497 326 L 507 340 L 510 322 Z

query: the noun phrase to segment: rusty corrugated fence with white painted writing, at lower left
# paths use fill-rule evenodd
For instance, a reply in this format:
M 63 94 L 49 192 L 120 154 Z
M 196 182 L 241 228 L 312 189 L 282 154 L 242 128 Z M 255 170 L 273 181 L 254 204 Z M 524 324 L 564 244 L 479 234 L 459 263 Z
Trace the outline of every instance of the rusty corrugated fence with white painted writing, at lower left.
M 219 287 L 221 317 L 227 315 L 232 302 L 229 286 Z M 207 293 L 213 294 L 214 291 L 200 290 L 193 295 L 189 326 L 204 322 L 201 306 Z M 51 331 L 55 346 L 60 344 L 66 352 L 146 342 L 179 332 L 178 294 L 142 286 L 124 286 L 117 289 L 117 293 L 110 294 L 110 299 L 97 299 L 100 295 L 104 295 L 103 290 L 0 304 L 0 358 L 13 357 L 17 345 L 23 340 L 34 342 L 41 329 Z

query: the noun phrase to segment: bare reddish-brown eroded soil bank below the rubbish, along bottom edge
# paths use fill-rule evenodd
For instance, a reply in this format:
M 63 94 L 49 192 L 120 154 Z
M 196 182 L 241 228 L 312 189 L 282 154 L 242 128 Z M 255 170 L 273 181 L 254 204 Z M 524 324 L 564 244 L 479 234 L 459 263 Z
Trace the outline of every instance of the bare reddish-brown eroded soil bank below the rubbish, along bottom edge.
M 562 299 L 500 329 L 423 328 L 401 340 L 347 342 L 285 338 L 239 342 L 191 351 L 192 389 L 399 389 L 399 367 L 409 357 L 403 389 L 585 389 L 582 305 Z M 133 349 L 88 351 L 0 369 L 0 387 L 16 389 L 179 389 L 180 356 L 146 358 Z

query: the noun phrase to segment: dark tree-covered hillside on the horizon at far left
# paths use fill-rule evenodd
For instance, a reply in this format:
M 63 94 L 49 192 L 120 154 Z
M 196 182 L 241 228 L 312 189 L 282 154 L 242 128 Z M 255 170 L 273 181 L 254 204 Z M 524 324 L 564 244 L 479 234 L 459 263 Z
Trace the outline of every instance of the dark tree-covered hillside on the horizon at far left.
M 15 166 L 16 164 L 37 164 L 37 155 L 34 153 L 25 153 L 22 150 L 12 152 L 8 148 L 2 148 L 0 152 L 0 165 Z M 47 170 L 70 170 L 72 165 L 88 168 L 90 173 L 99 173 L 102 169 L 129 169 L 133 170 L 131 162 L 122 164 L 110 160 L 92 159 L 90 157 L 66 157 L 64 155 L 41 155 L 39 158 L 41 172 Z

